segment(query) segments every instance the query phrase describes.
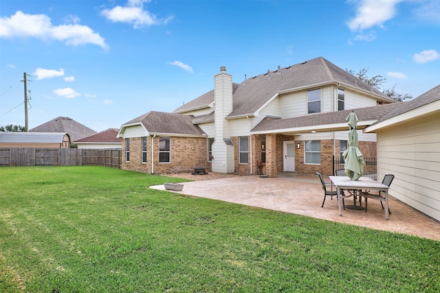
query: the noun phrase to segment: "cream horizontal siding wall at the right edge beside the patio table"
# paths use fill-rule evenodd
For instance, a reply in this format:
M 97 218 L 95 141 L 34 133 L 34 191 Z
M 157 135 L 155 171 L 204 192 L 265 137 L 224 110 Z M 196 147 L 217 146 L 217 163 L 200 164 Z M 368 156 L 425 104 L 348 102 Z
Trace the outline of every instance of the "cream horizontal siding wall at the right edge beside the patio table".
M 385 174 L 395 175 L 391 196 L 440 220 L 438 113 L 377 131 L 377 178 Z

